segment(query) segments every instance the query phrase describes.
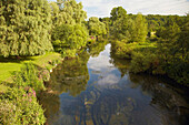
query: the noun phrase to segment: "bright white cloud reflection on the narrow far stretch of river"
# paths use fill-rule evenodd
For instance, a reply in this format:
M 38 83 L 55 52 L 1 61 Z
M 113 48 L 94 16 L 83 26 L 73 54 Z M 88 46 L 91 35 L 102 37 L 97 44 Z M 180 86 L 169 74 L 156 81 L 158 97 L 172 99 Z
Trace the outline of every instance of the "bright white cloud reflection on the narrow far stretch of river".
M 105 51 L 102 51 L 98 58 L 90 58 L 88 62 L 88 69 L 91 77 L 96 76 L 94 83 L 100 86 L 103 85 L 115 85 L 120 81 L 120 73 L 111 64 L 110 61 L 110 48 L 111 45 L 106 45 Z M 88 82 L 90 84 L 90 81 Z

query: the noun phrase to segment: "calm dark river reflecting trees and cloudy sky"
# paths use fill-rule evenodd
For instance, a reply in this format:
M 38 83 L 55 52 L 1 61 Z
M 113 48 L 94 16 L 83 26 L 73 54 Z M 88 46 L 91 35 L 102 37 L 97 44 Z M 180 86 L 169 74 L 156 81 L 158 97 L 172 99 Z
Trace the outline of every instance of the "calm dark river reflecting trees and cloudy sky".
M 187 125 L 187 92 L 150 75 L 130 74 L 129 61 L 99 43 L 64 61 L 41 93 L 49 125 Z

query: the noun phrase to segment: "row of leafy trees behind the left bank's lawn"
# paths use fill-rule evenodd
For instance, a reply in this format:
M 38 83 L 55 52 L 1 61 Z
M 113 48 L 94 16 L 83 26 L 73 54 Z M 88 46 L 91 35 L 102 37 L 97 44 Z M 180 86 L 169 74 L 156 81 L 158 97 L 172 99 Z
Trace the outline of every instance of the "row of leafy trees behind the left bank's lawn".
M 0 55 L 40 55 L 58 51 L 73 56 L 90 35 L 106 34 L 98 18 L 87 19 L 76 0 L 1 0 Z

